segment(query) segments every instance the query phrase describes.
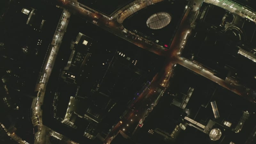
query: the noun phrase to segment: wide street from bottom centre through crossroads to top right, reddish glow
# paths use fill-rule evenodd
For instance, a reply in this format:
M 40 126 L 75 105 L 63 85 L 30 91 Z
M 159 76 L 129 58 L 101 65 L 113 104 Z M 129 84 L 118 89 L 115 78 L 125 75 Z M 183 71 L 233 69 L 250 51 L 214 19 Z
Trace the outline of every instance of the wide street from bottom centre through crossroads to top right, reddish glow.
M 191 2 L 190 4 L 194 4 L 194 3 Z M 119 127 L 119 130 L 123 131 L 128 136 L 131 136 L 134 133 L 133 129 L 136 130 L 138 128 L 140 119 L 144 120 L 145 116 L 148 115 L 147 105 L 149 105 L 152 102 L 154 105 L 156 105 L 156 103 L 154 103 L 154 102 L 158 98 L 159 94 L 161 96 L 161 93 L 159 93 L 157 95 L 155 91 L 157 89 L 164 90 L 164 87 L 161 84 L 166 79 L 166 75 L 168 75 L 170 73 L 170 71 L 172 71 L 173 66 L 177 63 L 177 61 L 178 61 L 177 53 L 180 51 L 183 39 L 185 36 L 187 36 L 187 33 L 190 29 L 190 22 L 187 21 L 187 16 L 188 16 L 189 12 L 190 12 L 190 9 L 188 9 L 187 12 L 185 13 L 185 15 L 180 23 L 180 26 L 176 32 L 176 35 L 174 36 L 173 42 L 172 42 L 169 50 L 165 51 L 166 52 L 165 56 L 167 58 L 167 62 L 165 64 L 163 70 L 153 78 L 153 81 L 150 84 L 150 89 L 147 89 L 145 92 L 143 92 L 139 96 L 139 99 L 134 104 L 134 108 L 135 108 L 134 111 L 130 111 L 127 114 L 127 116 L 125 117 L 125 119 L 122 120 L 123 124 L 122 124 L 122 126 Z M 134 128 L 134 125 L 132 128 L 128 128 L 127 124 L 132 125 L 132 123 L 135 123 L 135 128 Z M 132 129 L 132 130 L 130 130 L 130 129 Z M 109 134 L 109 136 L 105 140 L 105 143 L 109 144 L 111 142 L 111 139 L 109 139 L 109 137 L 112 137 L 113 136 L 112 134 L 116 134 L 117 130 L 118 129 L 116 129 L 115 132 L 112 131 L 113 133 Z

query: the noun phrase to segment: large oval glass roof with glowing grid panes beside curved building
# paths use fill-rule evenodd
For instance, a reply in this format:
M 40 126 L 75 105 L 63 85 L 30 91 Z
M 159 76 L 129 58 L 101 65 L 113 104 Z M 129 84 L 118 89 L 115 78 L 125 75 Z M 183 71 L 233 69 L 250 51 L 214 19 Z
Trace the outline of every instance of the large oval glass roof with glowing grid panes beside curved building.
M 147 20 L 147 26 L 151 29 L 166 27 L 171 22 L 172 17 L 167 12 L 158 12 L 151 15 Z

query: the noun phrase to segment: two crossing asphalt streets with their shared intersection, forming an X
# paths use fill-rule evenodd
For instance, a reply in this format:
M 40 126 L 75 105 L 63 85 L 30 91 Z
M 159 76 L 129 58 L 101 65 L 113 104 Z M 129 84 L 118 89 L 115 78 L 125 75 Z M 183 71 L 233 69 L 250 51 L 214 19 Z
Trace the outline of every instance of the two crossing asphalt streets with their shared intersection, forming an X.
M 206 68 L 202 67 L 199 68 L 192 62 L 189 62 L 189 60 L 181 59 L 179 52 L 182 49 L 182 43 L 184 42 L 185 37 L 188 35 L 189 31 L 192 30 L 191 28 L 191 22 L 189 21 L 188 14 L 191 12 L 191 9 L 188 8 L 187 12 L 185 13 L 180 26 L 174 36 L 173 42 L 170 46 L 170 48 L 165 51 L 165 49 L 157 44 L 146 44 L 144 41 L 140 40 L 134 40 L 131 37 L 126 37 L 126 33 L 124 33 L 122 30 L 122 24 L 119 24 L 115 19 L 110 19 L 108 17 L 105 17 L 101 15 L 100 13 L 92 13 L 88 10 L 85 10 L 84 8 L 81 8 L 77 2 L 73 2 L 71 0 L 59 0 L 60 6 L 68 9 L 71 13 L 79 15 L 87 20 L 87 22 L 92 22 L 92 20 L 96 20 L 97 23 L 93 23 L 113 34 L 116 36 L 119 36 L 135 45 L 138 45 L 139 47 L 146 49 L 150 52 L 156 53 L 157 55 L 165 56 L 167 58 L 167 61 L 165 63 L 164 68 L 161 72 L 156 74 L 156 76 L 153 78 L 150 89 L 147 89 L 145 92 L 141 93 L 141 95 L 138 97 L 136 102 L 134 103 L 133 107 L 135 108 L 133 111 L 129 111 L 126 116 L 122 119 L 122 123 L 119 122 L 112 131 L 108 134 L 108 137 L 105 139 L 105 143 L 110 143 L 117 132 L 120 130 L 123 131 L 127 136 L 132 136 L 132 133 L 134 130 L 138 128 L 138 123 L 140 119 L 145 119 L 145 116 L 148 115 L 148 105 L 156 105 L 157 99 L 159 95 L 161 95 L 161 92 L 155 92 L 157 90 L 164 90 L 166 86 L 168 86 L 168 76 L 170 72 L 172 71 L 172 68 L 175 66 L 175 64 L 180 64 L 199 75 L 202 75 L 219 85 L 243 96 L 244 95 L 244 89 L 242 88 L 236 88 L 233 85 L 225 83 L 220 78 L 213 76 L 211 74 L 211 71 L 207 70 Z M 200 8 L 201 3 L 203 0 L 192 0 L 190 2 L 190 5 L 188 7 L 193 7 L 194 3 L 196 3 L 196 7 Z M 197 12 L 193 12 L 193 14 L 190 14 L 190 17 L 196 18 Z M 96 16 L 96 17 L 95 17 Z

